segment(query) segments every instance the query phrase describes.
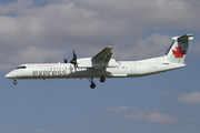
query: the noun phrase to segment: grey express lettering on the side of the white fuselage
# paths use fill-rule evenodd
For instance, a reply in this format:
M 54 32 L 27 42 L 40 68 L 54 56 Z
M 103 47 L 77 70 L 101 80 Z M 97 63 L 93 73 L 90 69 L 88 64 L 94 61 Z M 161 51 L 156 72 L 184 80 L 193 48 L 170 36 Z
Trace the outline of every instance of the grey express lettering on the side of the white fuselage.
M 33 71 L 33 76 L 62 76 L 67 75 L 67 71 Z

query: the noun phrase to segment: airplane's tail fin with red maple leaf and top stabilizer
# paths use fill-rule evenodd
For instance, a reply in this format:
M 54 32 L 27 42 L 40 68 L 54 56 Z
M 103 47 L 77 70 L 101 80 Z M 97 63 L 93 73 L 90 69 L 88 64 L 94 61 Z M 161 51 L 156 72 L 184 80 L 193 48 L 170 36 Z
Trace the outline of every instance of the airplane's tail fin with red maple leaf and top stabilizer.
M 173 42 L 166 53 L 164 63 L 184 63 L 186 54 L 190 44 L 193 40 L 192 34 L 186 34 L 182 37 L 173 37 Z

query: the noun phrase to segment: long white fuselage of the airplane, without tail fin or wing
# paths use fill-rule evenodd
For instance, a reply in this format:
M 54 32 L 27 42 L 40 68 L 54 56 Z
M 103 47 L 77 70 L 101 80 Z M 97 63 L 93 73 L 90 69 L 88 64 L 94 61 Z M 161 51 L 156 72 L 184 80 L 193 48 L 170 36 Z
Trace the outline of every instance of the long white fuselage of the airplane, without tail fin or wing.
M 179 63 L 163 63 L 164 57 L 141 61 L 119 61 L 119 66 L 94 69 L 74 68 L 71 63 L 22 64 L 8 73 L 8 79 L 83 79 L 83 78 L 133 78 L 170 71 L 184 66 Z

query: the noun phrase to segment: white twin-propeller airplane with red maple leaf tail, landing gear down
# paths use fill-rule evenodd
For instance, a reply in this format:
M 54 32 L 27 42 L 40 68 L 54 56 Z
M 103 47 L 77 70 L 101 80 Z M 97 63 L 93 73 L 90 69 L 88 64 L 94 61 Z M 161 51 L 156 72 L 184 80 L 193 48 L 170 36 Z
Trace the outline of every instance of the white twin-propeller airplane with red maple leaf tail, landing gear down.
M 138 78 L 186 66 L 184 59 L 192 34 L 173 37 L 173 42 L 166 55 L 140 61 L 117 61 L 112 59 L 112 47 L 107 47 L 93 58 L 73 58 L 68 63 L 21 64 L 9 72 L 6 78 L 12 79 L 17 85 L 18 79 L 88 79 L 90 88 L 94 89 L 94 78 L 104 82 L 106 78 Z

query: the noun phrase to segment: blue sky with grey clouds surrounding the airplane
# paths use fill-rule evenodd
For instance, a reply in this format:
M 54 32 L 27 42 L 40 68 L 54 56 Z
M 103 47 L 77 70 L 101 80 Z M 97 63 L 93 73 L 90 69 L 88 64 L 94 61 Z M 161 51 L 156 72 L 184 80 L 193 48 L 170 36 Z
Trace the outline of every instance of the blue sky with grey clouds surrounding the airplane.
M 199 133 L 199 0 L 0 0 L 0 133 Z M 143 78 L 12 80 L 22 63 L 163 55 L 194 34 L 187 66 Z

